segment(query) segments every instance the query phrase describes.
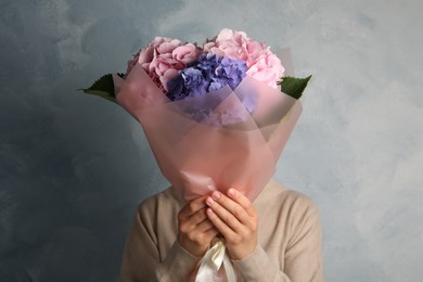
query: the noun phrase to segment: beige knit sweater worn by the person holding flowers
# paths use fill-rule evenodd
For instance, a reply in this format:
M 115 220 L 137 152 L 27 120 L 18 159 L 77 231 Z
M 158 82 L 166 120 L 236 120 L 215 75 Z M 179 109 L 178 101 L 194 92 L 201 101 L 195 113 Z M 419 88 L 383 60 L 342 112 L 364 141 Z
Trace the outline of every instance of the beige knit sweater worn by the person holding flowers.
M 124 282 L 190 280 L 200 258 L 176 240 L 177 216 L 183 205 L 174 188 L 140 204 L 126 241 Z M 259 244 L 248 257 L 232 261 L 239 280 L 324 281 L 321 226 L 312 201 L 272 180 L 254 206 L 259 215 Z

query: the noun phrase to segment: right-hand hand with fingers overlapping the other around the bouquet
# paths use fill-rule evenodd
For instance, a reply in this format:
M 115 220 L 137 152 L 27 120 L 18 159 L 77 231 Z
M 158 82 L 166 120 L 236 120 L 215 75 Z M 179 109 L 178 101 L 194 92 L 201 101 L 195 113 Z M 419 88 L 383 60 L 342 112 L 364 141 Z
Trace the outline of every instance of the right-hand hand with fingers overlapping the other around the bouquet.
M 258 215 L 253 203 L 231 188 L 228 195 L 218 191 L 206 198 L 207 216 L 225 238 L 232 259 L 243 259 L 257 246 Z

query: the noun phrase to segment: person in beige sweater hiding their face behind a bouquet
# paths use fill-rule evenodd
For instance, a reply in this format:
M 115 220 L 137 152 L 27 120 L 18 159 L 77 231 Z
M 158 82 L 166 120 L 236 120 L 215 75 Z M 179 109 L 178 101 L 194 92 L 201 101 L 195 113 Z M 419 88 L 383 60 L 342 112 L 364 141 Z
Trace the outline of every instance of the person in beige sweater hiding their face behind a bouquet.
M 273 180 L 254 203 L 233 188 L 187 204 L 174 188 L 145 200 L 127 238 L 121 279 L 189 281 L 217 236 L 238 281 L 324 281 L 316 205 Z

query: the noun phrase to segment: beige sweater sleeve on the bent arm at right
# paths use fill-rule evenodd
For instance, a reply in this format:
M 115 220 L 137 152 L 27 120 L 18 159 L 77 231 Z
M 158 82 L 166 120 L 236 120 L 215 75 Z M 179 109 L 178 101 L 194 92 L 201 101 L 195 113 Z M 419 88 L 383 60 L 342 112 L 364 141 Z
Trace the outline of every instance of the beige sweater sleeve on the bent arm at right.
M 306 205 L 304 205 L 306 204 Z M 242 260 L 233 264 L 243 281 L 322 282 L 321 226 L 317 207 L 310 200 L 305 208 L 293 208 L 292 235 L 284 254 L 284 269 L 272 261 L 261 245 Z

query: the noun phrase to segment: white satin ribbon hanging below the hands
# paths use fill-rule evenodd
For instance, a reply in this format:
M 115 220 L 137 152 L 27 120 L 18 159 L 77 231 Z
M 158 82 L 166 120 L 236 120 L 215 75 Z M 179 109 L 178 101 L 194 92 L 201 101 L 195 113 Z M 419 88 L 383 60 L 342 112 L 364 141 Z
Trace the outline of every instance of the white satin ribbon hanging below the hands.
M 228 282 L 236 282 L 235 270 L 226 253 L 226 246 L 220 239 L 206 252 L 198 265 L 200 268 L 195 282 L 216 281 L 216 274 L 222 265 L 225 266 Z

